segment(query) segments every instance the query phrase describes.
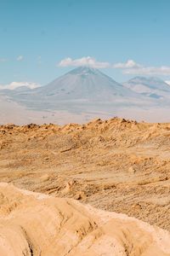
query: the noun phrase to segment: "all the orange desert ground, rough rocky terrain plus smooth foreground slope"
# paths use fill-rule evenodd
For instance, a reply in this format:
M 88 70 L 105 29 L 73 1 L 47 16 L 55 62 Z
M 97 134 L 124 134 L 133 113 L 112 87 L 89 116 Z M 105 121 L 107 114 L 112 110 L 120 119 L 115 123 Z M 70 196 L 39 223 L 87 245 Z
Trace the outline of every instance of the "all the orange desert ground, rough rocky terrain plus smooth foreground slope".
M 168 123 L 1 125 L 0 255 L 170 255 L 169 148 Z

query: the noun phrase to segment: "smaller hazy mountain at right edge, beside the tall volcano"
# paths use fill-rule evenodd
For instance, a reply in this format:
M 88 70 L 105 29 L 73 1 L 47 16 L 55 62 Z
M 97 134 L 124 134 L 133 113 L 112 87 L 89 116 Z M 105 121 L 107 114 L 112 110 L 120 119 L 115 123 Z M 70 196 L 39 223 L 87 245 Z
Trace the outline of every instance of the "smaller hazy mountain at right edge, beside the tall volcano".
M 127 89 L 152 98 L 170 97 L 170 86 L 155 77 L 135 77 L 123 84 Z

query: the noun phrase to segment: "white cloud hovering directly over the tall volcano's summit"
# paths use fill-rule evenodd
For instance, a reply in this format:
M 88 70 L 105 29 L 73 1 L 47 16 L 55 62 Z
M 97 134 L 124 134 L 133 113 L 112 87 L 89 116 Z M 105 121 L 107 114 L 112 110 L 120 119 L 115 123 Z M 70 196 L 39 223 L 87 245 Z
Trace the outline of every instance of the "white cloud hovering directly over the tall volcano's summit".
M 72 60 L 71 58 L 65 58 L 59 62 L 59 67 L 81 67 L 88 66 L 94 68 L 106 68 L 110 67 L 109 62 L 96 61 L 93 57 L 82 57 L 81 59 Z

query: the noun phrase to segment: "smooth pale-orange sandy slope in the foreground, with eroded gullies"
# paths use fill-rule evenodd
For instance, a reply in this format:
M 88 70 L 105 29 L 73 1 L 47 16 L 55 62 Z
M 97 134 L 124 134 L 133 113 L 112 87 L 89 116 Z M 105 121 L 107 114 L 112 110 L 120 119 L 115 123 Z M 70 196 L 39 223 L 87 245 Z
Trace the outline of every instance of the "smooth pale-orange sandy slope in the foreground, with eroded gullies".
M 166 256 L 170 234 L 135 218 L 0 183 L 1 256 Z

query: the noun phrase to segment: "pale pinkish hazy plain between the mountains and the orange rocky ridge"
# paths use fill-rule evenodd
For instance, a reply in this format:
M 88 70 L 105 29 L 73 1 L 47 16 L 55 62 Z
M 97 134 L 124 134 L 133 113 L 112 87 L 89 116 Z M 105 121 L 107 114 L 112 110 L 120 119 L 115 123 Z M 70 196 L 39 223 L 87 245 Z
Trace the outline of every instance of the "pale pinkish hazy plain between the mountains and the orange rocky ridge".
M 74 103 L 73 103 L 74 106 Z M 80 105 L 81 106 L 81 105 Z M 79 106 L 79 107 L 80 107 Z M 150 122 L 170 122 L 169 108 L 152 107 L 152 108 L 118 108 L 114 106 L 108 107 L 108 111 L 101 111 L 95 108 L 93 109 L 87 105 L 86 111 L 75 113 L 69 111 L 69 109 L 61 110 L 61 106 L 58 110 L 37 111 L 33 108 L 26 108 L 24 105 L 20 105 L 17 102 L 11 100 L 8 96 L 0 96 L 0 124 L 13 123 L 15 125 L 26 125 L 29 123 L 35 123 L 42 125 L 44 123 L 53 123 L 57 125 L 65 125 L 68 123 L 83 124 L 91 119 L 110 119 L 113 116 L 126 117 L 128 119 L 137 119 L 139 121 Z

